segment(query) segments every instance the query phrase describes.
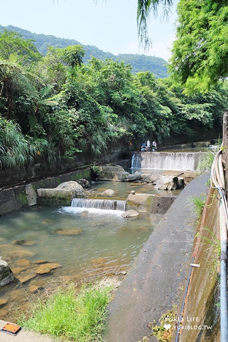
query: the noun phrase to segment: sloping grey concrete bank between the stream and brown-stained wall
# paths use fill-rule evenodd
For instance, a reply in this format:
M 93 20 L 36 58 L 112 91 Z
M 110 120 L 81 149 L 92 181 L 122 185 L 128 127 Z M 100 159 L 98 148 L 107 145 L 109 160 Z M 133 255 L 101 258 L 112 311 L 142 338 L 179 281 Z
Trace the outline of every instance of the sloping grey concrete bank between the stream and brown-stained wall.
M 207 193 L 209 174 L 195 178 L 181 192 L 141 248 L 109 303 L 106 342 L 157 341 L 147 327 L 179 301 L 196 230 L 188 200 Z

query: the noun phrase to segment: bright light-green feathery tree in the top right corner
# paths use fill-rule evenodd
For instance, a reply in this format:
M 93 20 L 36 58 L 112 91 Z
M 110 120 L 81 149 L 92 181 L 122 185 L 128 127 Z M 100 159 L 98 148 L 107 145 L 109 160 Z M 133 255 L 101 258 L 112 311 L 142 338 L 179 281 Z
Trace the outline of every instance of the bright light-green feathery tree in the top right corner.
M 207 92 L 227 76 L 228 6 L 223 0 L 180 0 L 170 71 L 186 92 Z

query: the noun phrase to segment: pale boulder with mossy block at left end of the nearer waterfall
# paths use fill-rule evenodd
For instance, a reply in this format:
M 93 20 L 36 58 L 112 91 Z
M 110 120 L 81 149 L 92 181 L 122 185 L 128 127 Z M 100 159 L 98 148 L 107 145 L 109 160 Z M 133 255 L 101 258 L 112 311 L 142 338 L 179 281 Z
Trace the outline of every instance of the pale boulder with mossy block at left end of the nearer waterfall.
M 87 197 L 84 188 L 77 182 L 59 184 L 54 189 L 37 189 L 38 203 L 47 205 L 70 205 L 74 197 Z

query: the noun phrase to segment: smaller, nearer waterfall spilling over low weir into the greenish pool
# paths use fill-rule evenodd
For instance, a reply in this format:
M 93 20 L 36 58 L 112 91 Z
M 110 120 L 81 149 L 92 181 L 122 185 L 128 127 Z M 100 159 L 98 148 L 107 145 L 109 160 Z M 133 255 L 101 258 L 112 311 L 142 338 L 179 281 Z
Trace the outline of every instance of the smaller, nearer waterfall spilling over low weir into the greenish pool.
M 117 200 L 88 200 L 86 198 L 73 198 L 71 201 L 71 207 L 125 211 L 126 202 Z

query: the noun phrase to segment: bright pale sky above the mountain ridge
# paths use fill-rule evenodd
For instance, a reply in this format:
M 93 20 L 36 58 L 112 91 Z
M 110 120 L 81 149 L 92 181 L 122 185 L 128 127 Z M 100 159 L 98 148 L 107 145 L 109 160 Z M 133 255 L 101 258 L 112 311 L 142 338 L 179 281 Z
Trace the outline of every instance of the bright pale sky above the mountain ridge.
M 174 6 L 166 20 L 148 23 L 153 47 L 139 50 L 137 38 L 137 0 L 0 0 L 0 25 L 13 25 L 33 33 L 75 39 L 103 51 L 140 53 L 168 60 L 175 39 Z

